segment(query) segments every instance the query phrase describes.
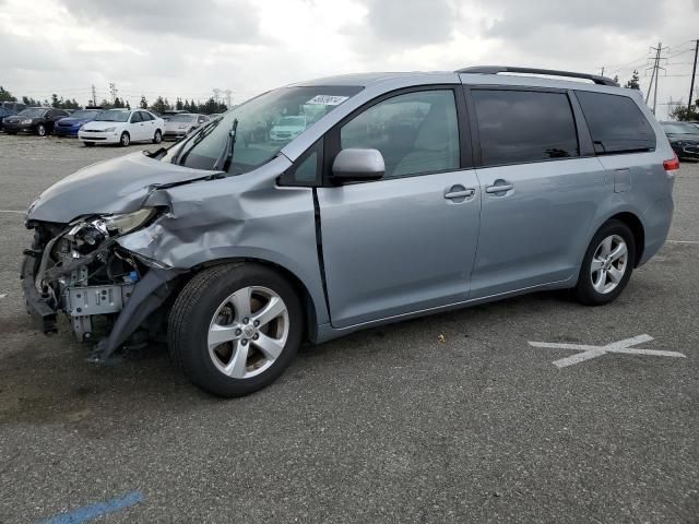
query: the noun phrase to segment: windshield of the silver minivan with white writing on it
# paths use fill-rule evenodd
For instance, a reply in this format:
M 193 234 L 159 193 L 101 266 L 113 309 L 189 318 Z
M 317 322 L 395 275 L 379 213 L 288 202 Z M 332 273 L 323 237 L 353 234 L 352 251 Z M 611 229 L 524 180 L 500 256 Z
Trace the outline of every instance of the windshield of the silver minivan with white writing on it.
M 272 159 L 306 128 L 354 96 L 357 86 L 293 86 L 264 93 L 213 120 L 182 145 L 176 160 L 197 169 L 213 169 L 226 148 L 233 122 L 238 120 L 232 175 L 250 171 Z M 285 126 L 286 129 L 280 129 Z M 274 129 L 273 129 L 274 128 Z M 175 154 L 175 152 L 173 152 Z M 163 157 L 171 162 L 170 155 Z

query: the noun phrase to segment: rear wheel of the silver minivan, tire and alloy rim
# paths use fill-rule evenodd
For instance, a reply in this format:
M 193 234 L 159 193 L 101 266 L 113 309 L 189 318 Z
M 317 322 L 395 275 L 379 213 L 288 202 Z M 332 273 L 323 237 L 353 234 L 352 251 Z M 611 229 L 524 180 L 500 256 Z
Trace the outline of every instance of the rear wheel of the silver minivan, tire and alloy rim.
M 614 301 L 631 278 L 635 263 L 636 240 L 631 229 L 620 221 L 607 222 L 588 246 L 573 296 L 585 306 Z

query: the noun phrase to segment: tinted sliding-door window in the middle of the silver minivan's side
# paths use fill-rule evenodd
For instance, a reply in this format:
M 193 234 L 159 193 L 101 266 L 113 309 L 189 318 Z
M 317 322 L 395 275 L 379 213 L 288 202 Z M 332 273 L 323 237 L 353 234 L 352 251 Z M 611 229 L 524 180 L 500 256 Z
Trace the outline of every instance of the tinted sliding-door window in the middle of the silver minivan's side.
M 565 93 L 473 90 L 472 96 L 484 166 L 580 155 Z

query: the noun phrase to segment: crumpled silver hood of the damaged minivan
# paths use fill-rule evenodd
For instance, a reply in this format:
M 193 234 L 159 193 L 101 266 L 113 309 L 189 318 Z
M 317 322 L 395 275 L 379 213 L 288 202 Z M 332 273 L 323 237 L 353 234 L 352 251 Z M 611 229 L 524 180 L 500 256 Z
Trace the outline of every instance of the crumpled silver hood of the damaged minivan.
M 34 201 L 26 218 L 66 224 L 82 215 L 129 213 L 141 207 L 153 187 L 213 174 L 132 153 L 93 164 L 56 182 Z

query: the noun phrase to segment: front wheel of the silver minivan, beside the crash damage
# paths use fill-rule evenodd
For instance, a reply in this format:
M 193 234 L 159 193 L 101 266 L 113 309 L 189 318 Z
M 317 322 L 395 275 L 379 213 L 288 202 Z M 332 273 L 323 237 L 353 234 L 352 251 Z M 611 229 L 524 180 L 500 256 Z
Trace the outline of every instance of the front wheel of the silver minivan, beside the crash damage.
M 266 308 L 275 312 L 256 319 Z M 277 314 L 280 308 L 285 309 Z M 292 362 L 304 313 L 296 291 L 279 273 L 260 264 L 225 264 L 187 283 L 173 305 L 167 332 L 170 356 L 197 386 L 223 397 L 244 396 L 271 384 Z M 210 346 L 212 333 L 229 342 Z

